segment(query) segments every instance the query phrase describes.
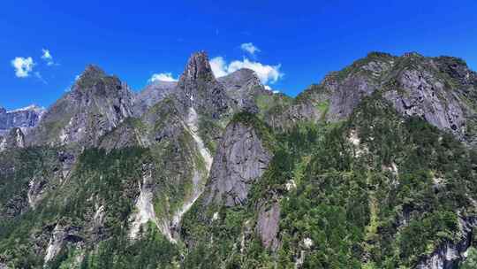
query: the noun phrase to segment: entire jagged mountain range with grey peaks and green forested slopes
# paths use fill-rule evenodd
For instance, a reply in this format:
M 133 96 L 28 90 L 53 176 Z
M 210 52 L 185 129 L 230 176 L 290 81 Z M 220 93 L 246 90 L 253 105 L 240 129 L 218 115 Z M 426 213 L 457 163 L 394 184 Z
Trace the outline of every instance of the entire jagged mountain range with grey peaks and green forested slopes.
M 296 98 L 205 52 L 137 95 L 89 65 L 0 136 L 0 268 L 475 268 L 476 110 L 417 53 Z

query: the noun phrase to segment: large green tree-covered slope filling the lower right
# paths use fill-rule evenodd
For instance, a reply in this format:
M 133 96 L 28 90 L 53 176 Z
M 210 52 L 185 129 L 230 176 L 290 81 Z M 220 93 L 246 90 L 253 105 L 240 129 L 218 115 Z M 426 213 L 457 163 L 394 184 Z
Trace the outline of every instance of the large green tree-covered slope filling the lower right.
M 186 268 L 454 268 L 475 244 L 477 153 L 382 96 L 275 136 L 244 203 L 186 216 Z

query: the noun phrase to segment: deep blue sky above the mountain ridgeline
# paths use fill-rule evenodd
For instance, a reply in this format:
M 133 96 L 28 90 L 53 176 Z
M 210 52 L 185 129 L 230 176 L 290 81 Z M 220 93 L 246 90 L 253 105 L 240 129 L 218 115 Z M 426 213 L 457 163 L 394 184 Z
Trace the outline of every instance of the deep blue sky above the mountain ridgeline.
M 372 50 L 451 55 L 477 70 L 475 11 L 474 0 L 4 0 L 0 105 L 49 106 L 87 64 L 139 90 L 154 74 L 177 78 L 197 50 L 224 73 L 260 68 L 263 81 L 291 96 Z M 260 51 L 241 48 L 249 42 Z

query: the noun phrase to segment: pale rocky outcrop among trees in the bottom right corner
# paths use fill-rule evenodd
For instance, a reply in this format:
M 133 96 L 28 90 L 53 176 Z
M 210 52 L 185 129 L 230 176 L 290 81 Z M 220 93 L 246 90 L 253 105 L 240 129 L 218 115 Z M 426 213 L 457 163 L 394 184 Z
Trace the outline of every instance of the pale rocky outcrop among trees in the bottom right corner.
M 473 236 L 473 228 L 477 227 L 476 218 L 459 218 L 461 238 L 457 243 L 445 242 L 431 255 L 422 259 L 417 269 L 453 269 L 465 259 Z

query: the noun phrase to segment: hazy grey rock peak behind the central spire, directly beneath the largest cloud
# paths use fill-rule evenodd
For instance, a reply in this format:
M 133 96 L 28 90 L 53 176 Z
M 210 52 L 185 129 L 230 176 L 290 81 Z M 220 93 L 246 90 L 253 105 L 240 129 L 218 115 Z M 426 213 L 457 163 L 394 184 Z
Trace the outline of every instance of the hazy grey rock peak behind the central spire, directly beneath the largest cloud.
M 256 96 L 273 95 L 271 91 L 265 89 L 260 79 L 250 69 L 239 69 L 234 73 L 218 78 L 217 81 L 223 84 L 227 96 L 231 97 L 240 109 L 246 111 L 258 111 L 254 102 Z

